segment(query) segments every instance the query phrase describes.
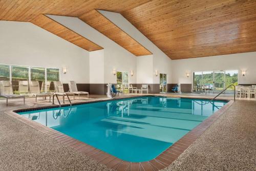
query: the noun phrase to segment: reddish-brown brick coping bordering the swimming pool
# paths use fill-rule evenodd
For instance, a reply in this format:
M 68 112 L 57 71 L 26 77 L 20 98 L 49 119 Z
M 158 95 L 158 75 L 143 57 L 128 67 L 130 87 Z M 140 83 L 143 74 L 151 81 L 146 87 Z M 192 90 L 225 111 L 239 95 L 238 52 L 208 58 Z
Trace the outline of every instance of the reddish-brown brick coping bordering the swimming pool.
M 138 95 L 138 96 L 129 96 L 129 97 L 122 97 L 122 98 L 102 99 L 102 100 L 95 100 L 95 101 L 84 101 L 84 102 L 73 103 L 73 105 L 120 100 L 120 99 L 129 99 L 129 98 L 144 97 L 144 96 L 155 96 L 155 95 Z M 160 95 L 157 95 L 157 96 L 160 96 Z M 168 97 L 168 96 L 161 96 L 161 97 Z M 195 98 L 195 97 L 184 97 L 184 98 L 208 99 L 208 100 L 211 99 L 211 98 Z M 72 137 L 69 137 L 63 133 L 60 133 L 45 125 L 32 121 L 16 113 L 16 112 L 27 112 L 27 111 L 35 111 L 35 110 L 42 110 L 42 109 L 58 108 L 59 107 L 58 105 L 42 106 L 42 107 L 27 108 L 27 109 L 17 109 L 17 110 L 7 111 L 5 113 L 33 127 L 35 130 L 54 138 L 55 140 L 59 141 L 61 144 L 71 147 L 74 150 L 81 152 L 97 160 L 101 164 L 104 164 L 114 170 L 126 170 L 128 167 L 130 167 L 131 170 L 140 170 L 141 168 L 143 168 L 144 170 L 160 170 L 172 164 L 172 162 L 174 162 L 179 157 L 179 155 L 182 154 L 185 151 L 185 149 L 188 148 L 189 145 L 195 142 L 197 138 L 201 136 L 204 133 L 204 131 L 220 115 L 222 115 L 234 102 L 233 100 L 223 100 L 223 99 L 216 99 L 216 100 L 227 101 L 227 103 L 220 110 L 218 110 L 217 112 L 209 116 L 207 119 L 201 122 L 198 126 L 196 126 L 193 130 L 191 130 L 185 136 L 183 136 L 180 140 L 178 140 L 172 146 L 167 148 L 163 153 L 161 153 L 155 159 L 147 162 L 123 161 L 121 159 L 118 159 L 115 156 L 112 156 L 110 154 L 107 154 L 101 151 L 100 149 L 94 148 L 89 144 L 73 139 Z M 62 104 L 61 107 L 63 106 L 70 106 L 70 105 Z

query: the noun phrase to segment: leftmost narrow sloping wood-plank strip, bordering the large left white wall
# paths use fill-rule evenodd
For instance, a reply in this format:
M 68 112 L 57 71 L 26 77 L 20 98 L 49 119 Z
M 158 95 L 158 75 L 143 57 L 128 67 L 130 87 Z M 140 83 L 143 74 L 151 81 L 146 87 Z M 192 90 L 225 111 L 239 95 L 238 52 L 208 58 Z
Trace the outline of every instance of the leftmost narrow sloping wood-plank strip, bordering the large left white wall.
M 84 38 L 83 36 L 75 33 L 74 31 L 62 26 L 61 24 L 55 22 L 53 19 L 45 16 L 44 14 L 40 14 L 33 20 L 31 23 L 65 39 L 80 48 L 83 48 L 87 51 L 96 51 L 103 49 L 102 47 L 96 45 L 94 42 Z

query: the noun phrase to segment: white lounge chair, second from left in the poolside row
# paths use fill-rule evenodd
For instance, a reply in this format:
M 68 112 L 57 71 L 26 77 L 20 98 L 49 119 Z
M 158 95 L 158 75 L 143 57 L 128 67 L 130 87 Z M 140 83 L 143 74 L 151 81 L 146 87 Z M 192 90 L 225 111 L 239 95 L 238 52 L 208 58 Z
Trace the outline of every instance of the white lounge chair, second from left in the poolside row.
M 37 97 L 43 97 L 46 99 L 46 97 L 50 97 L 51 102 L 51 94 L 52 93 L 40 93 L 40 87 L 38 81 L 29 81 L 29 93 L 33 96 L 35 96 L 35 102 L 37 102 Z

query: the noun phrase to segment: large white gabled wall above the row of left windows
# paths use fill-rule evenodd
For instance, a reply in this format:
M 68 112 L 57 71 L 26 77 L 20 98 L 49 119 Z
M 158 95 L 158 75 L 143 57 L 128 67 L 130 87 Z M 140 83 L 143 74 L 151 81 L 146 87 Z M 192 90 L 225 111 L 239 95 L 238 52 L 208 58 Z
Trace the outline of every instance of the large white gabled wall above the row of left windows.
M 0 21 L 0 63 L 67 67 L 63 83 L 89 83 L 89 52 L 31 23 Z

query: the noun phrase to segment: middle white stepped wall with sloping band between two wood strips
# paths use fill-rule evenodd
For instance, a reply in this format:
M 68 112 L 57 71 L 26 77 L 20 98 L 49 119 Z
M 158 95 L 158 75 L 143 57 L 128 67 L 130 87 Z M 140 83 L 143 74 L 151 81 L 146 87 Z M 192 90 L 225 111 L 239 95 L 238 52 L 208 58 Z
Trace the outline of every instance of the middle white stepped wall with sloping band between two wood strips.
M 116 83 L 116 75 L 113 75 L 113 69 L 116 69 L 116 71 L 128 72 L 133 70 L 134 73 L 136 73 L 137 67 L 135 55 L 125 50 L 116 44 L 116 42 L 104 36 L 91 26 L 82 22 L 79 18 L 56 15 L 48 16 L 104 48 L 104 83 Z M 90 67 L 95 68 L 97 66 L 93 65 Z M 100 70 L 98 72 L 100 72 Z M 91 77 L 97 77 L 98 72 L 91 73 Z M 136 83 L 136 74 L 130 77 L 130 83 Z

